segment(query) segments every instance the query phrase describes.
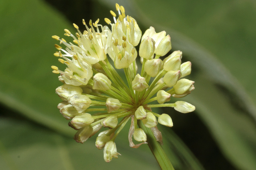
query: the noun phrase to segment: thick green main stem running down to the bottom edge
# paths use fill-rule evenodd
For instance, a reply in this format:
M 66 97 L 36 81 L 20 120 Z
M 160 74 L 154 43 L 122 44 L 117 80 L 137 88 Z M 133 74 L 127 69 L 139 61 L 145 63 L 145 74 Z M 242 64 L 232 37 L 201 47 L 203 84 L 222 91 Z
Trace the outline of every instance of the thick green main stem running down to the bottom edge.
M 144 130 L 144 132 L 147 135 L 147 142 L 148 147 L 153 153 L 153 155 L 156 158 L 156 161 L 158 165 L 161 167 L 162 170 L 174 170 L 170 160 L 168 159 L 166 153 L 164 152 L 164 149 L 162 148 L 161 144 L 156 141 L 156 138 L 152 131 L 149 128 L 146 128 L 142 121 L 138 120 L 138 124 L 141 129 Z

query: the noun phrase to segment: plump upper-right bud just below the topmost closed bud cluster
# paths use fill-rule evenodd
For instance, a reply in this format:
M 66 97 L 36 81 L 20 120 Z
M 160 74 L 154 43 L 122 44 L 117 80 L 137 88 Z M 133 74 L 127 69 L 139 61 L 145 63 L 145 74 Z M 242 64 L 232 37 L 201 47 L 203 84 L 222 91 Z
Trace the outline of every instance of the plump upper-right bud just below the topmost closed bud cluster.
M 164 59 L 164 70 L 175 71 L 180 70 L 182 52 L 174 51 L 171 55 Z

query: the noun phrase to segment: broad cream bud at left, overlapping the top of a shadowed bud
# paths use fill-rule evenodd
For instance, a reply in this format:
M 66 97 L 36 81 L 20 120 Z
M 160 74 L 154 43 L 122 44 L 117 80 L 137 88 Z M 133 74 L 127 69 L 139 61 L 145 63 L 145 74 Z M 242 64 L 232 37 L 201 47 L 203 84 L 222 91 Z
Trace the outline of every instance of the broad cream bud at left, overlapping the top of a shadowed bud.
M 74 94 L 71 97 L 68 97 L 68 103 L 71 104 L 78 113 L 82 113 L 92 103 L 92 100 L 89 99 L 86 95 L 83 94 Z

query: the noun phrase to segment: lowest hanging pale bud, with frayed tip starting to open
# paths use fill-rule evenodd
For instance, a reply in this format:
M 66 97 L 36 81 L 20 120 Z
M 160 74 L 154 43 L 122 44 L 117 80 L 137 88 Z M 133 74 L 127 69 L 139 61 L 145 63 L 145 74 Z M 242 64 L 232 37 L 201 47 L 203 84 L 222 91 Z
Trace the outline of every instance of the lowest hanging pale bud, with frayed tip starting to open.
M 118 155 L 121 155 L 121 154 L 118 153 L 116 150 L 116 143 L 113 141 L 108 141 L 105 144 L 104 151 L 103 151 L 104 160 L 106 162 L 110 162 L 112 158 L 118 158 Z

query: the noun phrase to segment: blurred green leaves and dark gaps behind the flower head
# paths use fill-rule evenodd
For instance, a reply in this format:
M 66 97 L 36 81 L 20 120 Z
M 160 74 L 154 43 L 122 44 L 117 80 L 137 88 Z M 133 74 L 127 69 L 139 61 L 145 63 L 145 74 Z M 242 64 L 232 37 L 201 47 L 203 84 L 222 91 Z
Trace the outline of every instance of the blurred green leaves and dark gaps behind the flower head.
M 147 145 L 129 147 L 129 127 L 116 138 L 118 159 L 106 163 L 95 137 L 73 140 L 57 109 L 61 85 L 51 65 L 61 67 L 56 40 L 96 21 L 106 25 L 115 3 L 138 22 L 171 36 L 172 51 L 191 61 L 195 90 L 182 98 L 192 113 L 171 115 L 159 125 L 175 169 L 256 169 L 256 2 L 252 0 L 4 0 L 0 2 L 0 167 L 1 169 L 159 169 Z M 83 29 L 81 29 L 83 31 Z M 138 46 L 139 47 L 139 46 Z M 59 64 L 59 65 L 58 65 Z M 176 100 L 172 100 L 175 102 Z M 171 102 L 172 102 L 171 101 Z

